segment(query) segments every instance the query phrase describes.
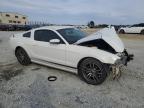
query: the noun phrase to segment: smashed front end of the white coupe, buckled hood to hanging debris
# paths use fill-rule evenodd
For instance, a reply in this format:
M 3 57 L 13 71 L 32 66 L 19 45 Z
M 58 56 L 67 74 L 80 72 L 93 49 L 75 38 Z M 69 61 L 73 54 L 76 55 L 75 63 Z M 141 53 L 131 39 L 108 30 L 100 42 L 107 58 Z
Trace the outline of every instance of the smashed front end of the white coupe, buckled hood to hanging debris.
M 75 44 L 95 47 L 120 57 L 115 64 L 110 66 L 114 79 L 121 76 L 122 70 L 125 69 L 127 63 L 133 60 L 134 57 L 133 54 L 128 54 L 123 42 L 113 27 L 104 28 L 98 32 L 95 32 L 86 38 L 78 40 Z

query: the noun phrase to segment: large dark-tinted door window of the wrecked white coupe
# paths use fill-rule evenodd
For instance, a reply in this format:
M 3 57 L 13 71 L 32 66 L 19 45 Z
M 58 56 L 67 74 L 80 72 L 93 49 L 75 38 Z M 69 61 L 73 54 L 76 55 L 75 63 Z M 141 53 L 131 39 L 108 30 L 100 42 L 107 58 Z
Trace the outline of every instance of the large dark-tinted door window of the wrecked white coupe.
M 64 44 L 63 40 L 51 30 L 36 30 L 34 33 L 34 40 L 49 42 L 51 39 L 59 39 L 61 44 Z

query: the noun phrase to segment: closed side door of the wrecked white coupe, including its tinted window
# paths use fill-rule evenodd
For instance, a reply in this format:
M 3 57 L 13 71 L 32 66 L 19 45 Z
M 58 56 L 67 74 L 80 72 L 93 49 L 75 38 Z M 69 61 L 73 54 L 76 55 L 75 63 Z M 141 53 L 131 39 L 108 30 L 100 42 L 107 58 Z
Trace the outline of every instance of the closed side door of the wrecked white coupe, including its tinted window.
M 51 39 L 59 39 L 58 44 L 51 44 Z M 52 30 L 36 30 L 31 43 L 32 55 L 35 59 L 65 65 L 66 44 Z

